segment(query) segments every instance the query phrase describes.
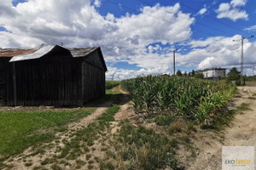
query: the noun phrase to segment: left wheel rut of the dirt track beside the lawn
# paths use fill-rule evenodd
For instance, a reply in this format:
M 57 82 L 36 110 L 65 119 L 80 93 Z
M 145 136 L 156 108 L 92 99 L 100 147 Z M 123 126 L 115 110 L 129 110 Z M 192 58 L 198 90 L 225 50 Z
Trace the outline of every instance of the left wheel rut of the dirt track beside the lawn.
M 94 111 L 90 116 L 86 116 L 79 120 L 79 122 L 71 122 L 67 125 L 67 131 L 61 133 L 55 133 L 55 140 L 42 144 L 41 148 L 44 148 L 44 152 L 36 153 L 37 150 L 34 148 L 28 148 L 23 151 L 19 156 L 11 156 L 8 160 L 4 161 L 4 163 L 12 165 L 10 169 L 13 170 L 26 170 L 32 169 L 31 167 L 27 167 L 26 163 L 31 163 L 34 166 L 39 166 L 40 162 L 54 156 L 57 150 L 60 147 L 63 147 L 65 144 L 63 141 L 70 141 L 73 139 L 73 133 L 77 132 L 84 127 L 87 127 L 91 122 L 95 122 L 98 116 L 101 116 L 102 113 L 108 110 L 108 107 L 112 105 L 113 101 L 105 102 L 103 107 L 97 107 L 96 111 Z M 40 148 L 38 149 L 40 150 Z

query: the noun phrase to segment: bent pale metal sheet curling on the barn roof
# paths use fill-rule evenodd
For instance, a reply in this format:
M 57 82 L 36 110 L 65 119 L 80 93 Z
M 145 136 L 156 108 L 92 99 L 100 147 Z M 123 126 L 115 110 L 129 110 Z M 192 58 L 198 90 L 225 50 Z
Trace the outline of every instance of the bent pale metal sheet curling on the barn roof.
M 34 53 L 32 54 L 21 54 L 21 55 L 14 56 L 12 59 L 9 60 L 9 62 L 26 60 L 26 59 L 38 59 L 44 56 L 45 54 L 48 54 L 53 48 L 55 48 L 55 46 L 44 45 L 43 47 L 34 51 Z

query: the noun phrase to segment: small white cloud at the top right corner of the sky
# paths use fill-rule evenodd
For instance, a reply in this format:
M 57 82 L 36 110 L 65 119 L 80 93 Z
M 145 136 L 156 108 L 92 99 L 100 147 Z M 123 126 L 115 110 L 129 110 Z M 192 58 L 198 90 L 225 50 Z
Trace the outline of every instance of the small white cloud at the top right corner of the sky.
M 240 7 L 244 6 L 247 0 L 232 0 L 230 3 L 220 3 L 216 12 L 217 18 L 228 18 L 230 20 L 247 20 L 248 14 L 245 10 L 241 10 Z

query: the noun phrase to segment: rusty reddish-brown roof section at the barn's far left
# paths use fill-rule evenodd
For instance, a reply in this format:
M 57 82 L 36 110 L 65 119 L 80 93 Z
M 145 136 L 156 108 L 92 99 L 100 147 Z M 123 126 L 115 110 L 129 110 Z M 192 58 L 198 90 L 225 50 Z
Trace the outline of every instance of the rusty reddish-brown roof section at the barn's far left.
M 32 54 L 38 49 L 0 48 L 0 57 L 14 57 L 16 55 Z

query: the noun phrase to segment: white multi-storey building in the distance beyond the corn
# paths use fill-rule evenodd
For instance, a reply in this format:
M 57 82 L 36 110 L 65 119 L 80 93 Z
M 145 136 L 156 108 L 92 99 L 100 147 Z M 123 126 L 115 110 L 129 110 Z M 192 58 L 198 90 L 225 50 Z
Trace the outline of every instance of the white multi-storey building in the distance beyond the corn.
M 205 69 L 202 71 L 204 74 L 204 78 L 207 79 L 212 79 L 214 81 L 218 81 L 220 77 L 225 77 L 226 76 L 226 69 L 224 68 L 211 68 L 211 69 Z

